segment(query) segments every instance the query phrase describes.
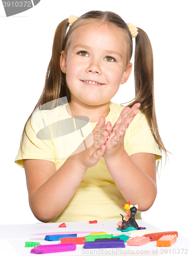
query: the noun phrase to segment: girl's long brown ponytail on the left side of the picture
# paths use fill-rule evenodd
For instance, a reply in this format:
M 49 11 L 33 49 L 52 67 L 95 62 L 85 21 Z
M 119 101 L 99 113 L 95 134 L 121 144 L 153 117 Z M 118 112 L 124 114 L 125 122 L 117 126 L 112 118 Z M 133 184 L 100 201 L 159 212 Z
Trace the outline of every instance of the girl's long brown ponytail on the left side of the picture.
M 45 104 L 45 109 L 48 109 L 48 102 L 51 102 L 54 100 L 54 102 L 56 102 L 57 104 L 60 101 L 56 101 L 55 99 L 65 97 L 65 96 L 67 97 L 68 102 L 70 101 L 70 91 L 66 84 L 66 77 L 65 77 L 65 74 L 61 72 L 61 69 L 60 69 L 60 56 L 61 56 L 61 51 L 63 50 L 63 47 L 64 47 L 68 25 L 69 25 L 68 19 L 64 19 L 56 28 L 55 36 L 53 40 L 52 57 L 46 72 L 44 88 L 32 114 L 29 116 L 25 124 L 25 127 L 21 135 L 21 140 L 20 140 L 21 155 L 22 155 L 23 136 L 26 135 L 28 137 L 26 133 L 27 123 L 30 122 L 30 125 L 31 125 L 31 117 L 36 111 L 40 110 L 40 106 Z M 54 105 L 50 103 L 49 109 L 53 109 L 56 106 L 57 105 L 55 105 L 55 103 Z M 30 140 L 29 137 L 28 139 Z

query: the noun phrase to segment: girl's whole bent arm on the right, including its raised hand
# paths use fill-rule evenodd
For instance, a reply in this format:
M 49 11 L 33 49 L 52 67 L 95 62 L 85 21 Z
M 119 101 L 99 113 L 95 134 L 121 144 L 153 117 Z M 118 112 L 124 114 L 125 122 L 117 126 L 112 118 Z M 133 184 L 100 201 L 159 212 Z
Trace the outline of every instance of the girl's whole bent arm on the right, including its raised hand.
M 137 204 L 138 210 L 149 209 L 157 194 L 156 156 L 148 153 L 137 153 L 129 157 L 124 149 L 125 131 L 138 113 L 140 104 L 130 109 L 123 109 L 119 119 L 111 128 L 107 122 L 109 139 L 103 155 L 110 175 L 126 201 Z

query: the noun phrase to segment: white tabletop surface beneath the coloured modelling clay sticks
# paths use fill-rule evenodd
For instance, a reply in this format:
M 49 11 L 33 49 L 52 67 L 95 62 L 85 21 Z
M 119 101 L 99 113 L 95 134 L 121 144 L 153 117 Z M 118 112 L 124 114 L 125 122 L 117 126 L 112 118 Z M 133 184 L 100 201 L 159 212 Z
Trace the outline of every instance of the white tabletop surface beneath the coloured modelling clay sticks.
M 117 221 L 99 221 L 97 224 L 88 222 L 67 222 L 65 228 L 59 228 L 61 223 L 39 223 L 27 225 L 1 225 L 0 226 L 0 255 L 2 256 L 27 256 L 35 255 L 30 253 L 31 247 L 25 247 L 25 242 L 39 242 L 41 245 L 56 244 L 58 241 L 45 241 L 45 235 L 41 233 L 70 232 L 70 231 L 90 231 L 107 232 L 108 234 L 127 234 L 117 230 Z M 139 227 L 156 228 L 158 231 L 177 231 L 160 230 L 142 220 L 136 220 Z M 173 225 L 174 226 L 174 225 Z M 40 233 L 40 234 L 39 234 Z M 35 234 L 35 235 L 34 235 Z M 86 236 L 89 233 L 80 233 L 78 236 Z M 83 245 L 77 245 L 75 251 L 46 253 L 44 255 L 155 255 L 155 254 L 174 254 L 189 255 L 189 240 L 182 238 L 178 234 L 177 242 L 171 247 L 156 247 L 156 242 L 150 242 L 141 246 L 129 246 L 125 243 L 125 248 L 103 248 L 103 249 L 84 249 Z

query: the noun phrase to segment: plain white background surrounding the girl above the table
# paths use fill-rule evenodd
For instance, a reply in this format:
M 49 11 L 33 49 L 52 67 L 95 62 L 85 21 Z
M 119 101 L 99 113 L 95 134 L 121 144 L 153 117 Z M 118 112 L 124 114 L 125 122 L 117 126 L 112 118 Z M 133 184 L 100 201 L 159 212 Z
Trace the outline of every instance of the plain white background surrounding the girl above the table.
M 142 218 L 189 238 L 187 1 L 41 0 L 34 8 L 11 17 L 6 17 L 0 3 L 0 224 L 39 223 L 29 207 L 24 169 L 14 159 L 23 126 L 44 87 L 56 27 L 70 14 L 81 16 L 90 10 L 114 11 L 126 23 L 145 30 L 151 40 L 159 132 L 173 155 L 169 154 L 165 167 L 163 157 L 157 198 Z M 112 101 L 120 104 L 133 98 L 132 72 Z M 111 205 L 107 207 L 111 210 Z M 117 212 L 118 219 L 119 215 Z

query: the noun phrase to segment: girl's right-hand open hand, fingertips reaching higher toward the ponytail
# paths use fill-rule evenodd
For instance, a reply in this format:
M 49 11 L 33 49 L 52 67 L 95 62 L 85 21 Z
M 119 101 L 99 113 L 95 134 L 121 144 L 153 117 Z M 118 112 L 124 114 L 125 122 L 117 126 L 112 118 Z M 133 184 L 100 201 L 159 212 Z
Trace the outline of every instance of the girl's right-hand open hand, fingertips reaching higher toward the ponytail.
M 106 151 L 103 154 L 105 160 L 112 160 L 114 157 L 124 152 L 125 131 L 133 118 L 137 115 L 139 106 L 140 103 L 135 103 L 131 109 L 126 106 L 113 127 L 111 127 L 111 122 L 107 122 L 105 133 L 109 135 L 109 138 L 105 143 Z

